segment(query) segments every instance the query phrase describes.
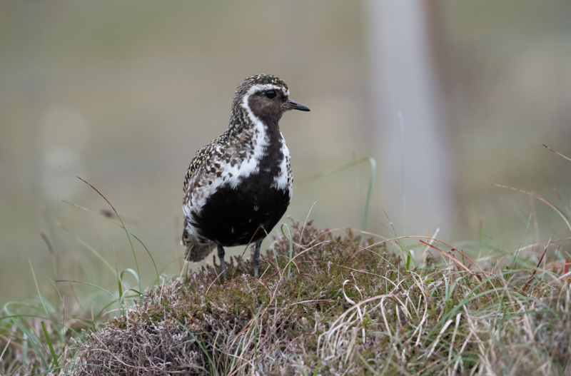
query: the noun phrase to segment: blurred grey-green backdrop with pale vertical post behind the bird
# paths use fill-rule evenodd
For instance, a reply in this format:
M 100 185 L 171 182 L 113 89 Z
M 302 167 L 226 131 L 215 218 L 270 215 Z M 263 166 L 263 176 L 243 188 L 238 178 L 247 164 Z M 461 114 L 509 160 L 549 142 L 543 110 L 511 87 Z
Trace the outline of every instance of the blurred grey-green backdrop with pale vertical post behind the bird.
M 570 1 L 2 1 L 0 302 L 34 293 L 30 265 L 45 288 L 112 286 L 94 251 L 135 268 L 121 228 L 61 202 L 110 209 L 59 166 L 111 201 L 159 273 L 178 275 L 188 163 L 255 73 L 311 108 L 281 121 L 294 220 L 315 203 L 318 228 L 363 226 L 367 163 L 308 178 L 373 157 L 373 233 L 440 228 L 507 250 L 571 236 L 544 203 L 482 184 L 571 206 L 571 162 L 540 145 L 571 156 Z

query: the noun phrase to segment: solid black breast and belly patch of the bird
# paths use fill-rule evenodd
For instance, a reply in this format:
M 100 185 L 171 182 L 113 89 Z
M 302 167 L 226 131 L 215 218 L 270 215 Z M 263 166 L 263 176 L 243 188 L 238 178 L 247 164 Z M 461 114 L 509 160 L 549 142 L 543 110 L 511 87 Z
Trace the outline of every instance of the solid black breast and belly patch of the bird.
M 268 132 L 270 144 L 266 156 L 258 162 L 258 173 L 243 178 L 236 188 L 227 184 L 218 187 L 200 214 L 192 215 L 191 224 L 203 238 L 223 246 L 255 242 L 264 238 L 283 216 L 290 194 L 288 190 L 272 187 L 274 178 L 281 173 L 284 158 L 281 133 L 277 127 L 276 131 Z M 263 228 L 258 230 L 260 225 Z

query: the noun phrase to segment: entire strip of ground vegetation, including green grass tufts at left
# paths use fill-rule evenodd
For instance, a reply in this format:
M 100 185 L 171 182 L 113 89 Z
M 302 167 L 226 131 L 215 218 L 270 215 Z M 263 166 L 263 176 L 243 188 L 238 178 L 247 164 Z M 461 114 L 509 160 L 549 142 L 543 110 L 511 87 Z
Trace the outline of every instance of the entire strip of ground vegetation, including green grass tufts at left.
M 567 208 L 527 194 L 569 224 Z M 261 278 L 242 256 L 221 283 L 213 256 L 139 293 L 138 272 L 131 288 L 115 268 L 116 291 L 91 285 L 111 296 L 97 314 L 76 283 L 64 295 L 54 281 L 49 298 L 36 283 L 36 298 L 3 306 L 1 375 L 571 374 L 570 238 L 485 255 L 435 237 L 282 230 Z

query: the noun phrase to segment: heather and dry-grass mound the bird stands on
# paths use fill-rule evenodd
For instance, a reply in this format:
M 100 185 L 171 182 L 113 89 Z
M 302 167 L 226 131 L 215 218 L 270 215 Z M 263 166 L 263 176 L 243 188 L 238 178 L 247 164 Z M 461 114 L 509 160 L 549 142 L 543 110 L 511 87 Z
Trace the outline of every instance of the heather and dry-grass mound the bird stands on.
M 218 267 L 164 281 L 60 375 L 571 375 L 562 266 L 484 273 L 448 252 L 445 270 L 407 271 L 394 240 L 292 233 L 290 278 L 280 236 L 261 279 L 238 258 L 223 285 Z

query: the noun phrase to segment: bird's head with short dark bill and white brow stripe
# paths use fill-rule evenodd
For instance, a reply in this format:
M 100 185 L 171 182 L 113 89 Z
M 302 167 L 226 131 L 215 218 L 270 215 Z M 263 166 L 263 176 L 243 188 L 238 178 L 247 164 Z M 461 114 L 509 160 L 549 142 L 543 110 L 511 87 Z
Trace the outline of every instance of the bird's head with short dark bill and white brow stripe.
M 290 90 L 283 80 L 269 74 L 246 78 L 236 89 L 233 108 L 242 108 L 262 121 L 277 122 L 285 111 L 310 111 L 290 99 Z

